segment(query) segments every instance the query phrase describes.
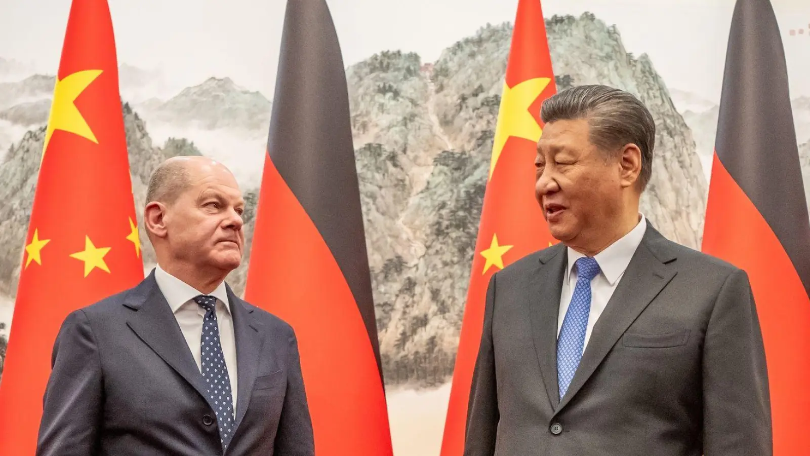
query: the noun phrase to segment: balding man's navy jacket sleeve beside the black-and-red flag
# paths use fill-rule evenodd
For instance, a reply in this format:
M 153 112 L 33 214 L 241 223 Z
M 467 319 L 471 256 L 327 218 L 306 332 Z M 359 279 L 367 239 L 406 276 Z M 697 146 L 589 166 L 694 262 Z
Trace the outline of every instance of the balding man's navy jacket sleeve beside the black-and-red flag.
M 284 396 L 279 430 L 275 435 L 275 455 L 313 456 L 315 441 L 312 419 L 309 416 L 304 377 L 301 374 L 301 356 L 298 353 L 298 341 L 294 332 L 289 342 L 287 394 Z

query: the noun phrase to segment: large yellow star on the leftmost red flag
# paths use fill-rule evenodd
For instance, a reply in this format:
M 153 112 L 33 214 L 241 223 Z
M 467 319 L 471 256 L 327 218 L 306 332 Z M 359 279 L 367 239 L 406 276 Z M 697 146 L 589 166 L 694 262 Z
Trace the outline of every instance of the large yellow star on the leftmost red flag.
M 101 70 L 76 71 L 66 75 L 62 80 L 56 81 L 56 87 L 53 88 L 48 129 L 45 131 L 45 145 L 42 148 L 43 157 L 45 151 L 48 150 L 48 143 L 53 136 L 53 131 L 56 130 L 68 131 L 98 144 L 96 136 L 93 135 L 74 102 L 100 74 Z

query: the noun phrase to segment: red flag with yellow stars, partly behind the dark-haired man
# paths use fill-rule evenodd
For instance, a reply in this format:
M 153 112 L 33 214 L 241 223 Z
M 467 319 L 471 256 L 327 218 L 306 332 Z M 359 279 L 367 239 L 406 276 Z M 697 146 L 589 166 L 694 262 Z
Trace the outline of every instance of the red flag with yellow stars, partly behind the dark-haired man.
M 542 209 L 535 200 L 534 162 L 537 141 L 543 132 L 540 105 L 555 92 L 540 2 L 519 0 L 441 456 L 461 456 L 463 453 L 467 402 L 484 325 L 484 299 L 489 278 L 497 270 L 553 242 Z

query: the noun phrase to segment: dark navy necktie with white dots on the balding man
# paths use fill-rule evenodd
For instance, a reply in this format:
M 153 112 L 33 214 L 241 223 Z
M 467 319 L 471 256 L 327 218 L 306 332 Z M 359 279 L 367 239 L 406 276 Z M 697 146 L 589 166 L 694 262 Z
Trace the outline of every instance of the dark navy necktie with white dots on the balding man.
M 194 302 L 205 309 L 203 317 L 203 337 L 200 338 L 203 378 L 208 388 L 208 403 L 214 409 L 217 424 L 220 426 L 220 441 L 228 448 L 233 429 L 233 399 L 228 366 L 220 345 L 220 329 L 216 324 L 216 298 L 199 295 Z

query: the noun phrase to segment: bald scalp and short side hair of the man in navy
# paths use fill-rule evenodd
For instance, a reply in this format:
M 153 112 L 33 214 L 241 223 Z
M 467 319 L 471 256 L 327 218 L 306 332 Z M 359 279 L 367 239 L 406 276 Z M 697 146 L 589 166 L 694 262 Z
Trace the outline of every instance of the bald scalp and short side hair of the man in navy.
M 211 158 L 198 156 L 168 158 L 156 168 L 149 179 L 147 204 L 151 201 L 173 204 L 177 196 L 190 187 L 195 178 L 200 174 L 211 172 L 231 174 L 228 168 Z

